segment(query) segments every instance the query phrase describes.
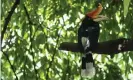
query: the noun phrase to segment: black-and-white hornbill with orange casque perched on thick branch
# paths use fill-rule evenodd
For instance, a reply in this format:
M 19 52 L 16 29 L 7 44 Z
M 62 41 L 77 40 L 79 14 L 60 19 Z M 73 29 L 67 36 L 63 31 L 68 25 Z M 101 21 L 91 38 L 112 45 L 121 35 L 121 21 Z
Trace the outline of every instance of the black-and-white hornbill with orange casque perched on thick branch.
M 88 12 L 80 28 L 78 29 L 78 46 L 82 54 L 81 76 L 93 77 L 95 75 L 92 50 L 97 46 L 100 27 L 98 21 L 106 20 L 107 17 L 99 15 L 103 7 L 99 3 L 96 10 Z

